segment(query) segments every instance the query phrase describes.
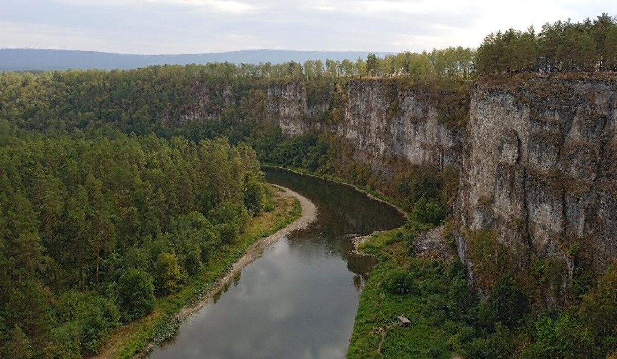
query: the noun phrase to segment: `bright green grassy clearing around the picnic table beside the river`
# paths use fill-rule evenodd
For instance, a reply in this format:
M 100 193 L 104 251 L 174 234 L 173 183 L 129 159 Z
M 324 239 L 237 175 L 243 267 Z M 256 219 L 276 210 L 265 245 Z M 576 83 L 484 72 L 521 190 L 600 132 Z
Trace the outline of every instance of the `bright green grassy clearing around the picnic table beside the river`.
M 347 358 L 450 358 L 455 352 L 450 338 L 462 326 L 451 320 L 444 304 L 449 284 L 457 279 L 452 276 L 452 264 L 408 255 L 409 242 L 397 237 L 400 231 L 410 230 L 383 231 L 360 247 L 366 254 L 375 255 L 379 264 L 362 291 Z M 384 289 L 384 283 L 400 270 L 411 273 L 416 289 L 392 295 Z M 407 328 L 397 324 L 400 314 L 411 321 Z

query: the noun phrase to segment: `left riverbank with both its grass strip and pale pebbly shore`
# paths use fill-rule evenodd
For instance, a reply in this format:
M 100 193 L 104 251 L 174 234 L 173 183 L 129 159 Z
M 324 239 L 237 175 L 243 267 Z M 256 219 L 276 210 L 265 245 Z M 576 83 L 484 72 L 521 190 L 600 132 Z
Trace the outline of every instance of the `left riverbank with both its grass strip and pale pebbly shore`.
M 94 358 L 143 357 L 154 344 L 172 337 L 181 318 L 197 312 L 268 244 L 315 220 L 317 208 L 310 200 L 288 189 L 273 188 L 275 210 L 252 218 L 236 243 L 222 247 L 199 278 L 180 292 L 157 299 L 152 313 L 119 328 Z

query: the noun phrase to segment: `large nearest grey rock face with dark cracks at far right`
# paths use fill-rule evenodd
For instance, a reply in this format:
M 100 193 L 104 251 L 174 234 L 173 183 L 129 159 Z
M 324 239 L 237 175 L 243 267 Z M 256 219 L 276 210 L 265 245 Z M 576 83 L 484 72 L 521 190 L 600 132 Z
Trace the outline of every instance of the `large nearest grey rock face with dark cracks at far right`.
M 570 272 L 574 242 L 597 268 L 617 258 L 616 109 L 609 81 L 476 83 L 457 197 L 463 228 L 497 228 L 500 243 L 563 258 Z

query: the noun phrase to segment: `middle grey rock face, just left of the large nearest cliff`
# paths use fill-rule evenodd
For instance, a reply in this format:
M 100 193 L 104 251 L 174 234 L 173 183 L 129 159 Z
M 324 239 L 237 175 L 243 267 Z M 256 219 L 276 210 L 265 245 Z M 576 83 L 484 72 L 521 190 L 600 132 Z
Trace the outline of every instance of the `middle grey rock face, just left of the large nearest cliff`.
M 333 132 L 358 149 L 440 169 L 460 165 L 463 131 L 450 130 L 438 120 L 432 97 L 439 93 L 380 80 L 352 80 L 347 96 L 345 120 Z

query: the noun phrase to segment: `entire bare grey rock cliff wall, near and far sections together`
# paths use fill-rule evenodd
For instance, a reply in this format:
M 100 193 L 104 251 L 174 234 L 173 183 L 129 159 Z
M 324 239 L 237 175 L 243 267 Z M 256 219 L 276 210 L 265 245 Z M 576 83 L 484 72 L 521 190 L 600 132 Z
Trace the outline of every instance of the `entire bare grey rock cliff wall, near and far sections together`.
M 615 83 L 479 81 L 470 102 L 461 102 L 468 103 L 466 126 L 444 121 L 440 91 L 387 79 L 350 80 L 344 91 L 337 123 L 317 120 L 329 102 L 309 106 L 301 83 L 271 88 L 269 114 L 286 134 L 334 133 L 373 160 L 459 168 L 455 219 L 465 230 L 496 228 L 497 240 L 515 252 L 560 258 L 570 272 L 566 252 L 575 242 L 594 252 L 598 269 L 617 258 Z M 457 239 L 471 268 L 470 244 L 461 231 Z

